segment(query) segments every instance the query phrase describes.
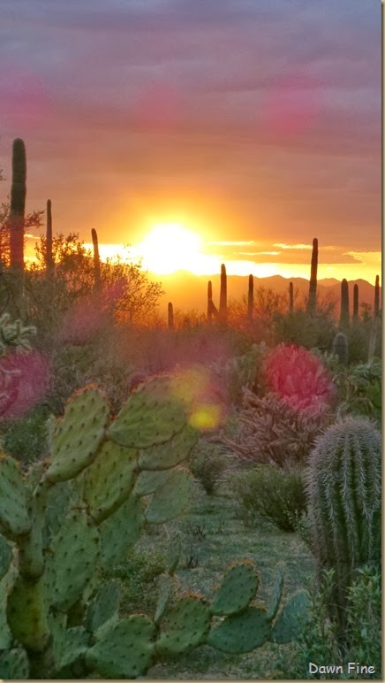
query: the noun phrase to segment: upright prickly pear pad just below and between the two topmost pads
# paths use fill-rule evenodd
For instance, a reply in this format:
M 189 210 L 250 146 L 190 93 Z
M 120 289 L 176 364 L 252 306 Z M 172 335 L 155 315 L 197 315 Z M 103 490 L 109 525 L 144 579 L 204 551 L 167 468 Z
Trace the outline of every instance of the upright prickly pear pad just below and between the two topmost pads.
M 130 495 L 138 451 L 105 441 L 84 472 L 83 500 L 96 524 L 115 512 Z

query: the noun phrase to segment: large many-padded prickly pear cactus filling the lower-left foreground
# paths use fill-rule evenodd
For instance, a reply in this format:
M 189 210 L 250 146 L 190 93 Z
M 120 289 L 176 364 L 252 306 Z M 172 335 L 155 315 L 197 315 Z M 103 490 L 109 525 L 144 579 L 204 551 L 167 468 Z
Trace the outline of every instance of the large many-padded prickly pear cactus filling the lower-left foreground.
M 105 582 L 143 526 L 188 503 L 193 478 L 181 464 L 200 434 L 189 424 L 193 395 L 176 388 L 170 377 L 147 381 L 116 419 L 86 388 L 53 425 L 48 463 L 25 473 L 0 458 L 0 678 L 134 679 L 200 643 L 248 652 L 271 636 L 282 575 L 266 608 L 253 604 L 259 574 L 247 561 L 230 567 L 211 603 L 176 598 L 177 537 L 153 617 L 122 618 L 119 588 Z

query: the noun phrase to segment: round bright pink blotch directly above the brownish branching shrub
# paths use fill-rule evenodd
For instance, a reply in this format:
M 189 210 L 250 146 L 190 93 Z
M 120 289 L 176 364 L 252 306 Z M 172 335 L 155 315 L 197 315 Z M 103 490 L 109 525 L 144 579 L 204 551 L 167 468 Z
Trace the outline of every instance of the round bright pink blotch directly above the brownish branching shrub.
M 311 413 L 332 403 L 336 387 L 321 360 L 294 344 L 280 344 L 265 360 L 263 371 L 270 391 L 291 408 Z

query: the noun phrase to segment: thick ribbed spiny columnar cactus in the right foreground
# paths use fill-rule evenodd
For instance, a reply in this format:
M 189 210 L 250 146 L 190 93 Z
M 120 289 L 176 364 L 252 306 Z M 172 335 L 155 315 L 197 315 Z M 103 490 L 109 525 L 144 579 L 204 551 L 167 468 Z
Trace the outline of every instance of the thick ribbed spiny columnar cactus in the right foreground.
M 346 589 L 354 570 L 381 559 L 381 433 L 348 416 L 318 437 L 307 475 L 313 551 L 334 569 L 330 616 L 345 631 Z

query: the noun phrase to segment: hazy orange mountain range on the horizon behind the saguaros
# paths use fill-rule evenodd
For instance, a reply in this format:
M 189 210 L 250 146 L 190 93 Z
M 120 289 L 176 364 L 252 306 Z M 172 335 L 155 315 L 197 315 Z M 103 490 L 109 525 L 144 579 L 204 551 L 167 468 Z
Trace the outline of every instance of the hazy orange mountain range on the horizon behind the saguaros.
M 160 300 L 161 312 L 167 311 L 167 304 L 171 302 L 174 311 L 196 310 L 198 313 L 206 313 L 208 306 L 208 280 L 213 285 L 213 301 L 219 307 L 219 291 L 221 276 L 215 275 L 194 275 L 189 271 L 178 271 L 171 275 L 155 275 L 148 273 L 150 280 L 162 282 L 162 289 L 165 294 Z M 296 303 L 304 302 L 304 296 L 309 292 L 309 280 L 305 278 L 283 278 L 281 275 L 272 275 L 267 278 L 254 277 L 254 295 L 258 288 L 272 289 L 276 293 L 284 293 L 288 296 L 289 305 L 289 283 L 293 283 L 294 306 Z M 369 303 L 374 306 L 374 284 L 366 280 L 348 280 L 350 310 L 353 306 L 353 287 L 359 286 L 359 304 Z M 243 295 L 247 296 L 248 276 L 228 275 L 227 276 L 227 297 L 228 301 L 239 300 Z M 317 296 L 319 301 L 332 298 L 336 301 L 336 316 L 339 316 L 341 300 L 341 282 L 335 278 L 326 278 L 317 282 Z M 381 288 L 380 288 L 381 300 Z M 381 304 L 380 304 L 381 305 Z

